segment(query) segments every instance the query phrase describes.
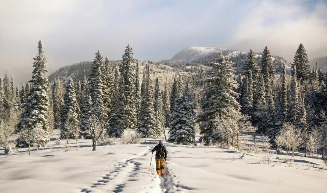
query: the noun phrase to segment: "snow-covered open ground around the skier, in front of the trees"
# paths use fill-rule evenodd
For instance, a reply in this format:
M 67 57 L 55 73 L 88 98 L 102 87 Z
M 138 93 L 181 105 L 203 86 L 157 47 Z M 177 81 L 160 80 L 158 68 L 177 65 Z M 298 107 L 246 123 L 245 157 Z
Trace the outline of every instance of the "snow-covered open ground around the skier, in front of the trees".
M 243 153 L 236 150 L 165 142 L 169 173 L 159 178 L 154 157 L 150 167 L 150 150 L 160 139 L 98 146 L 96 151 L 90 140 L 78 140 L 77 144 L 71 140 L 69 151 L 64 151 L 65 141 L 55 145 L 55 137 L 30 156 L 27 149 L 0 156 L 1 193 L 327 192 L 327 172 L 320 171 L 322 161 L 315 156 L 296 156 L 289 164 L 282 163 L 285 155 L 260 151 L 244 153 L 239 159 Z M 253 143 L 252 136 L 243 138 Z

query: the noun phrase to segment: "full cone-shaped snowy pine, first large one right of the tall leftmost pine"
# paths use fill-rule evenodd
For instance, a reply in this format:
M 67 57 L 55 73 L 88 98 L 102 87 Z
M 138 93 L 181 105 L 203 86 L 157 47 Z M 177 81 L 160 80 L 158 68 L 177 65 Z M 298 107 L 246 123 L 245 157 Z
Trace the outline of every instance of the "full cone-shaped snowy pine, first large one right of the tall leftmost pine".
M 66 85 L 66 93 L 64 96 L 64 105 L 61 107 L 60 117 L 60 138 L 61 139 L 77 139 L 78 114 L 79 106 L 75 94 L 75 83 L 69 79 Z

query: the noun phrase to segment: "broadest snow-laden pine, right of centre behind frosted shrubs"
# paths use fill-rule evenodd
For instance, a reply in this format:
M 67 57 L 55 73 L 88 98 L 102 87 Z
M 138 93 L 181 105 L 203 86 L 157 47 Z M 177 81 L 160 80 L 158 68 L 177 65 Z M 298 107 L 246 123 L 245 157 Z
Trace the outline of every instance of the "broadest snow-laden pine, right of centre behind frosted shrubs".
M 207 80 L 208 86 L 202 91 L 202 112 L 198 115 L 200 134 L 203 135 L 205 144 L 220 140 L 220 135 L 218 133 L 215 135 L 216 120 L 236 122 L 235 117 L 240 115 L 241 108 L 235 99 L 239 97 L 239 94 L 233 91 L 238 87 L 237 82 L 232 79 L 235 72 L 235 68 L 232 67 L 233 63 L 225 61 L 220 56 L 219 63 L 213 63 L 213 65 L 211 78 Z

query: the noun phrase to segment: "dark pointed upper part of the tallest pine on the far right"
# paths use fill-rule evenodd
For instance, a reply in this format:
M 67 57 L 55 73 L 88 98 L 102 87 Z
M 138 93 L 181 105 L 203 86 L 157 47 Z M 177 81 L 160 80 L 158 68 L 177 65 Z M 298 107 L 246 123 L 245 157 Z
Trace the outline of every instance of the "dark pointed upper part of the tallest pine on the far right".
M 309 80 L 310 78 L 310 65 L 308 64 L 308 56 L 305 52 L 303 44 L 300 44 L 298 50 L 294 56 L 294 64 L 292 64 L 293 69 L 296 69 L 297 79 L 303 82 L 304 80 Z M 296 68 L 294 68 L 296 66 Z M 294 73 L 295 71 L 293 71 Z

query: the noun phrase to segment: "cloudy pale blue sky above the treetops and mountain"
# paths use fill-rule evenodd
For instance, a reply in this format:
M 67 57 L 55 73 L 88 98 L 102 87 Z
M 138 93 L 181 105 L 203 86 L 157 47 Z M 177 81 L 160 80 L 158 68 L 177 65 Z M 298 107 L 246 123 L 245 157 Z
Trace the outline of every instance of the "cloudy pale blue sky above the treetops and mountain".
M 316 58 L 327 55 L 327 0 L 0 0 L 0 76 L 29 80 L 40 39 L 49 73 L 97 50 L 121 59 L 128 43 L 139 60 L 216 45 L 292 61 L 300 43 Z

